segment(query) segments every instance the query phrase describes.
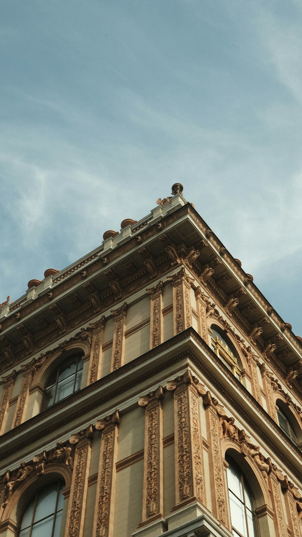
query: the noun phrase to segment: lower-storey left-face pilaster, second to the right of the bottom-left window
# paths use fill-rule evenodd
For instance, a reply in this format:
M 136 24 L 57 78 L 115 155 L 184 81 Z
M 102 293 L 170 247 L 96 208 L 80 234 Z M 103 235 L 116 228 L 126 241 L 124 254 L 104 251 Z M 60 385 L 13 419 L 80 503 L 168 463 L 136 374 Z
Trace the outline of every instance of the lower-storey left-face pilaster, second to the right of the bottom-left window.
M 111 537 L 113 531 L 113 506 L 116 486 L 116 458 L 119 411 L 98 420 L 96 429 L 102 431 L 97 478 L 94 537 Z

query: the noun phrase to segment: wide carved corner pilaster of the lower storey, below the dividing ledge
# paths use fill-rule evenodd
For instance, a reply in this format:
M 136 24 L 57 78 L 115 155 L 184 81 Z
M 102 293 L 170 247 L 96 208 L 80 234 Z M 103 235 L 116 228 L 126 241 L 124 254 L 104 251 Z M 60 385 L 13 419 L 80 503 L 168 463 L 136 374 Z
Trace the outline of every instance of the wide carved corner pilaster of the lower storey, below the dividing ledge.
M 175 431 L 175 507 L 195 500 L 205 503 L 202 430 L 199 396 L 203 386 L 190 370 L 169 381 L 167 390 L 174 391 Z

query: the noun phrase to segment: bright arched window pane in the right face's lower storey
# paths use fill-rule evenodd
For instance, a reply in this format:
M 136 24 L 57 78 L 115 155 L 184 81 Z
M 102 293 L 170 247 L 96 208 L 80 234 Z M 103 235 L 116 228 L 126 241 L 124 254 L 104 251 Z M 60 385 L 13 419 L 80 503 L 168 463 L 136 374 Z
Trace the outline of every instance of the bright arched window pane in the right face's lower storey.
M 254 499 L 241 469 L 226 455 L 232 532 L 236 537 L 257 537 Z

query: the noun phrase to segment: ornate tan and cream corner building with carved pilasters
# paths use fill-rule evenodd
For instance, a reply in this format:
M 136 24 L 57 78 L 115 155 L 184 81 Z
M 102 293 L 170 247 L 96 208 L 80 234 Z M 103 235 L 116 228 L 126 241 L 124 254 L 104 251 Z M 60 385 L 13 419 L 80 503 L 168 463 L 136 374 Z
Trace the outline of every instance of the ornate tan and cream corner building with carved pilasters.
M 180 184 L 0 325 L 0 537 L 301 537 L 302 340 Z

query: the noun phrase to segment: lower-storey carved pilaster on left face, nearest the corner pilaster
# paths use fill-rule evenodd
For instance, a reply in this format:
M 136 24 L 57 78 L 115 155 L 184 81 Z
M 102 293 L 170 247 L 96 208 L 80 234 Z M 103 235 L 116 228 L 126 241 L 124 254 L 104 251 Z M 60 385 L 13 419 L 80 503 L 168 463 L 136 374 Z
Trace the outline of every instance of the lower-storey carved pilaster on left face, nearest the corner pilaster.
M 139 400 L 140 407 L 146 407 L 140 526 L 163 518 L 162 398 L 163 389 L 159 386 Z

